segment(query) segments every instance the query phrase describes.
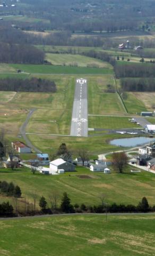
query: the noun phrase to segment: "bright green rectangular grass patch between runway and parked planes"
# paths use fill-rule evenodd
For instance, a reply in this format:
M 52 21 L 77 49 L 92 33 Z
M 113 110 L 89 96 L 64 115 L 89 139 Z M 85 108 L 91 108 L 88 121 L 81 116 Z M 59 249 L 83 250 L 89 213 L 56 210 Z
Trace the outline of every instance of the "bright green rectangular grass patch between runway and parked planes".
M 121 129 L 137 127 L 136 124 L 128 121 L 128 117 L 117 116 L 89 116 L 88 125 L 90 128 Z

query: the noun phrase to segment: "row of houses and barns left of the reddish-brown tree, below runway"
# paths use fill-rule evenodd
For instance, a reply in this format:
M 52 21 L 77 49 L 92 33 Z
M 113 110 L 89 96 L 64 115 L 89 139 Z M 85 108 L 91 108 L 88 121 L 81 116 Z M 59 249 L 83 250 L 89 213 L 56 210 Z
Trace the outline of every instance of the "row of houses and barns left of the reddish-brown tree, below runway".
M 2 167 L 19 167 L 22 164 L 27 164 L 28 166 L 38 167 L 38 171 L 43 174 L 58 174 L 64 172 L 73 172 L 77 165 L 83 165 L 81 157 L 75 158 L 74 161 L 64 161 L 62 158 L 57 158 L 54 161 L 49 161 L 48 154 L 36 154 L 33 155 L 33 159 L 27 161 L 22 161 L 18 153 L 31 153 L 31 148 L 25 145 L 21 141 L 14 141 L 11 143 L 12 149 L 15 150 L 16 154 L 9 154 L 7 160 L 3 161 Z M 91 163 L 90 161 L 84 161 L 84 166 L 88 167 L 92 172 L 103 172 L 110 173 L 109 165 L 113 164 L 110 160 L 102 159 L 96 160 Z M 42 167 L 41 167 L 42 166 Z M 44 167 L 47 166 L 47 167 Z

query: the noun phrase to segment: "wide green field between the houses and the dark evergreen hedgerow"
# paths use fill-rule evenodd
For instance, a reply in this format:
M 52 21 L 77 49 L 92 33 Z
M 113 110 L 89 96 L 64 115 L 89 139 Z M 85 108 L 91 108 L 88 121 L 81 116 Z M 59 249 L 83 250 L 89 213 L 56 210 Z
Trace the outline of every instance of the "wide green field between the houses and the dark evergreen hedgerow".
M 45 196 L 49 203 L 49 195 L 54 191 L 59 195 L 59 203 L 63 192 L 67 192 L 72 204 L 84 203 L 85 205 L 100 204 L 99 196 L 104 194 L 108 203 L 138 204 L 143 196 L 146 196 L 150 205 L 154 205 L 155 177 L 154 174 L 141 171 L 132 174 L 131 166 L 127 166 L 123 174 L 113 171 L 111 174 L 93 173 L 85 167 L 76 167 L 76 172 L 66 172 L 61 175 L 32 174 L 30 169 L 22 167 L 15 171 L 0 169 L 0 180 L 12 181 L 20 186 L 22 198 L 33 203 L 33 195 L 37 191 L 39 198 Z M 84 178 L 82 178 L 85 175 Z M 41 189 L 40 189 L 41 188 Z M 91 188 L 91 189 L 90 189 Z M 11 197 L 2 196 L 3 200 Z

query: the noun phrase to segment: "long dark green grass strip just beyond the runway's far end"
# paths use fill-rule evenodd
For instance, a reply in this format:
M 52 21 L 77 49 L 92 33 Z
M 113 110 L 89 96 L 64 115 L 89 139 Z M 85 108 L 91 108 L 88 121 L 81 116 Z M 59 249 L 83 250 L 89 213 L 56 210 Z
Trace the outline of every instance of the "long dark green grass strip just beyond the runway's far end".
M 21 69 L 25 73 L 30 74 L 113 74 L 113 70 L 111 68 L 88 68 L 26 64 L 8 64 L 8 66 L 13 70 Z

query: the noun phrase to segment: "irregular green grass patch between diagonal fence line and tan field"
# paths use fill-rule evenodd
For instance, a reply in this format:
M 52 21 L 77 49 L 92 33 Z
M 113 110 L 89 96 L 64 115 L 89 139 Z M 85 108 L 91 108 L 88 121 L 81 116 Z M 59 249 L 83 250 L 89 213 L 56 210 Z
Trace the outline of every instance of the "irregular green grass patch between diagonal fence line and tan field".
M 147 111 L 142 98 L 136 97 L 135 92 L 126 92 L 127 99 L 123 99 L 129 114 L 140 114 L 141 111 Z

